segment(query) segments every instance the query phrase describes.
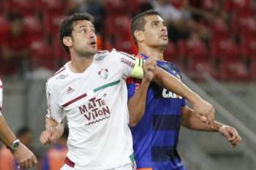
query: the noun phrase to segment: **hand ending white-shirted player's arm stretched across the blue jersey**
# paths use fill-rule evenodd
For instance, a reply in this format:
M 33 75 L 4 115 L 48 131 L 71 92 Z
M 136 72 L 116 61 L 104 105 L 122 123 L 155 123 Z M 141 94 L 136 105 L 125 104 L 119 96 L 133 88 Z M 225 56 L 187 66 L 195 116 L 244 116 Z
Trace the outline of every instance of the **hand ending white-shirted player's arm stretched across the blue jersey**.
M 213 127 L 215 109 L 211 104 L 202 98 L 197 98 L 197 100 L 193 103 L 193 109 L 202 122 Z

